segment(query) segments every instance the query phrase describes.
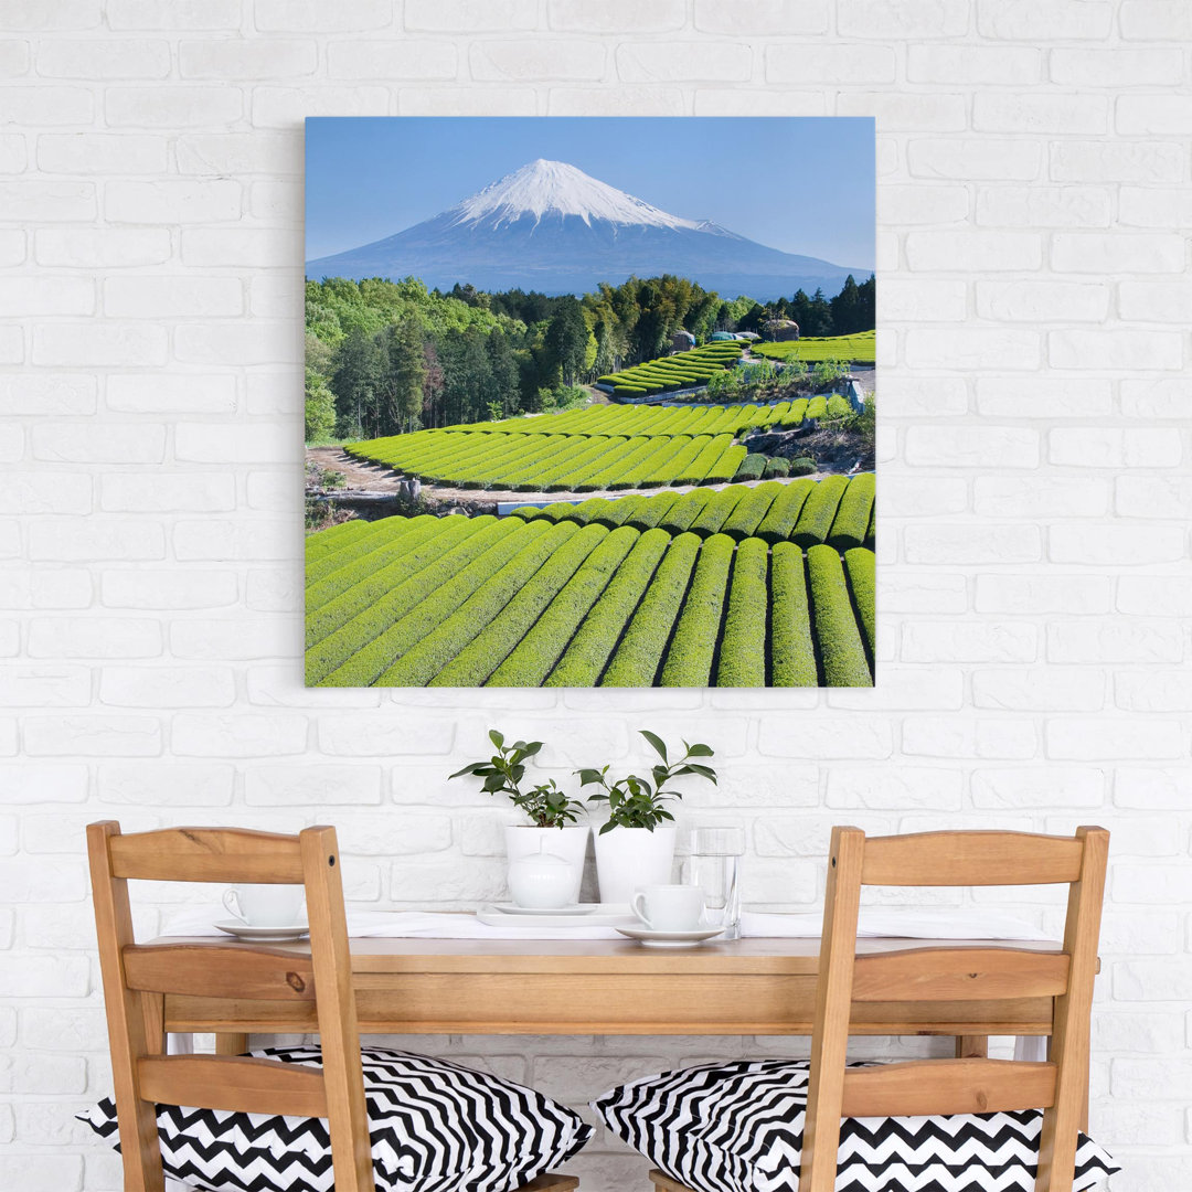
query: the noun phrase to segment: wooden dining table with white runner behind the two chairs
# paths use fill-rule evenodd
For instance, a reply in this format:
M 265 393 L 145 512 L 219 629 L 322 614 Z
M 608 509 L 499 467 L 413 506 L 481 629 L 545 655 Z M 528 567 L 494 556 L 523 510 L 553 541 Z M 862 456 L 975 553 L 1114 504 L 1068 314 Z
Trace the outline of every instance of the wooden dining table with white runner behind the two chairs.
M 156 940 L 163 942 L 163 940 Z M 210 944 L 210 938 L 170 937 Z M 865 938 L 857 954 L 943 940 Z M 1060 951 L 1037 940 L 950 939 L 949 946 Z M 353 938 L 364 1035 L 811 1035 L 818 938 L 747 938 L 670 950 L 631 940 Z M 305 943 L 272 945 L 296 955 Z M 982 1055 L 991 1035 L 1051 1030 L 1051 999 L 856 1002 L 855 1035 L 937 1035 Z M 238 1054 L 252 1032 L 312 1032 L 311 1001 L 168 994 L 169 1032 L 213 1032 Z

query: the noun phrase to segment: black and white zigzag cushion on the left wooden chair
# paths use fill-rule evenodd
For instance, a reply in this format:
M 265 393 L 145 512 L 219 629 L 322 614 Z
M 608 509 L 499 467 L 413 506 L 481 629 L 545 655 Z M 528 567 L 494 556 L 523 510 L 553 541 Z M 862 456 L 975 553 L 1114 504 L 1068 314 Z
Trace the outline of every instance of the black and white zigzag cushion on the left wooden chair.
M 318 1067 L 317 1047 L 249 1055 Z M 447 1060 L 366 1049 L 378 1192 L 513 1192 L 583 1148 L 592 1128 L 565 1105 Z M 119 1149 L 111 1098 L 79 1115 Z M 207 1192 L 330 1192 L 322 1118 L 157 1106 L 166 1174 Z

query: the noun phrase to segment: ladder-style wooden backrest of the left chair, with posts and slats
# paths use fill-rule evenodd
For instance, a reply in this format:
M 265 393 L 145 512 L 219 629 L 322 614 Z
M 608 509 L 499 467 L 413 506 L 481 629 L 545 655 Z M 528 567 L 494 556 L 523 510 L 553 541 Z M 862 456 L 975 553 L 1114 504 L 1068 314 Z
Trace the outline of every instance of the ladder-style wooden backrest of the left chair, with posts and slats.
M 299 836 L 87 828 L 125 1192 L 162 1192 L 155 1104 L 328 1119 L 337 1192 L 374 1192 L 335 828 Z M 310 955 L 240 943 L 137 944 L 130 879 L 303 886 Z M 164 999 L 313 1001 L 323 1068 L 164 1054 Z

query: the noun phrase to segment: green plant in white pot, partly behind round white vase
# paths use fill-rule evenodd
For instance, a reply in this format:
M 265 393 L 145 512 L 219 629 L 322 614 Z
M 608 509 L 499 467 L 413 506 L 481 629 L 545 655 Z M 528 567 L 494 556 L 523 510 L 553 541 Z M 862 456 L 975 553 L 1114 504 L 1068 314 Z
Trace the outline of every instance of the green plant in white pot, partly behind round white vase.
M 505 826 L 505 855 L 513 865 L 523 857 L 545 853 L 559 857 L 572 869 L 571 901 L 579 901 L 579 883 L 584 876 L 588 853 L 588 825 L 577 824 L 584 806 L 559 790 L 554 778 L 522 790 L 526 760 L 542 747 L 541 741 L 514 741 L 495 728 L 489 730 L 496 753 L 486 762 L 471 762 L 452 777 L 471 775 L 483 778 L 482 790 L 490 795 L 505 794 L 509 801 L 529 818 L 529 824 Z

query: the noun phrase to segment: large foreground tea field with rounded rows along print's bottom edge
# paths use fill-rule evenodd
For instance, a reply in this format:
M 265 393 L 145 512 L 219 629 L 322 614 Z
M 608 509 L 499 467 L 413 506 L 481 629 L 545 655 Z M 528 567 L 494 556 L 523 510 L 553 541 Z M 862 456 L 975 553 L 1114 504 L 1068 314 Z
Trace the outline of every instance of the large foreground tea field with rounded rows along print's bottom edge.
M 873 477 L 352 521 L 306 540 L 323 687 L 868 687 Z

